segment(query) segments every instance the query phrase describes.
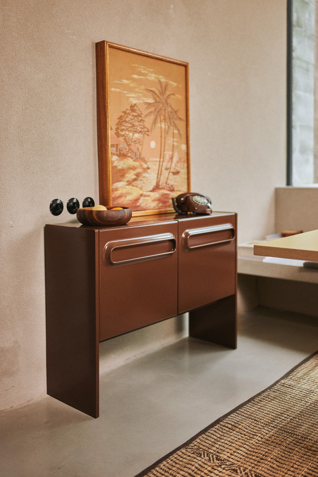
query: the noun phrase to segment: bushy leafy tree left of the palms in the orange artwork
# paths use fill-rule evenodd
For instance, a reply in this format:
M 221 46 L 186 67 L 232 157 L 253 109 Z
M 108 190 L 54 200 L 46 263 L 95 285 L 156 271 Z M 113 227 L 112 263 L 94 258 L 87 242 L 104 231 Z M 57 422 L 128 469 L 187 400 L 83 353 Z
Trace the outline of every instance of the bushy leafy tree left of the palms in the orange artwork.
M 144 136 L 149 135 L 150 131 L 145 125 L 142 112 L 137 104 L 131 104 L 130 107 L 122 111 L 122 113 L 115 126 L 116 136 L 123 137 L 128 150 L 131 150 L 133 143 L 143 146 Z M 142 137 L 142 141 L 140 137 Z

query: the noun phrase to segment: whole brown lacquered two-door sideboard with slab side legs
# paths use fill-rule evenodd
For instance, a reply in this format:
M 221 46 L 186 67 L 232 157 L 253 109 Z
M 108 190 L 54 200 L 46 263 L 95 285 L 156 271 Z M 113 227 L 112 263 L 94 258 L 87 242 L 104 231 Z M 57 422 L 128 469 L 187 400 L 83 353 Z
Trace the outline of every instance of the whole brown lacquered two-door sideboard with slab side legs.
M 236 348 L 236 214 L 45 226 L 47 393 L 99 415 L 99 342 L 189 311 L 189 334 Z

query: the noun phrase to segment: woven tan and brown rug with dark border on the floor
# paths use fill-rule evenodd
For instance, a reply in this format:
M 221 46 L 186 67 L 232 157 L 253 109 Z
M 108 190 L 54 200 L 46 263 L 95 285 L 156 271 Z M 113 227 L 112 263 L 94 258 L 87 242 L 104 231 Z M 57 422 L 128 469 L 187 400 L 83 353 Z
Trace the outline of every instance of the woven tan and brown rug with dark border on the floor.
M 317 477 L 318 353 L 142 476 Z

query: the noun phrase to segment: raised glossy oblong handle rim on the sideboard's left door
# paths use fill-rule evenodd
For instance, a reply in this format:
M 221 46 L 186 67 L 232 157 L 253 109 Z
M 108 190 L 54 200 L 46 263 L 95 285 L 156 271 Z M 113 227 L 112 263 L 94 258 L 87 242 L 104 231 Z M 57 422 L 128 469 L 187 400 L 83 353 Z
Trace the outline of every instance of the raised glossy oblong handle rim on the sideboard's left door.
M 169 250 L 167 252 L 154 253 L 152 255 L 134 257 L 133 259 L 125 259 L 125 260 L 112 259 L 112 252 L 114 250 L 119 250 L 123 248 L 127 249 L 129 247 L 136 247 L 138 245 L 152 245 L 155 243 L 162 243 L 166 241 L 171 241 L 173 243 L 172 250 Z M 162 258 L 162 257 L 172 255 L 175 252 L 175 244 L 176 244 L 176 240 L 175 240 L 174 234 L 171 234 L 171 233 L 148 235 L 145 237 L 137 237 L 135 239 L 113 240 L 113 241 L 107 242 L 104 247 L 104 261 L 109 265 L 121 265 L 121 264 L 133 263 L 137 261 Z

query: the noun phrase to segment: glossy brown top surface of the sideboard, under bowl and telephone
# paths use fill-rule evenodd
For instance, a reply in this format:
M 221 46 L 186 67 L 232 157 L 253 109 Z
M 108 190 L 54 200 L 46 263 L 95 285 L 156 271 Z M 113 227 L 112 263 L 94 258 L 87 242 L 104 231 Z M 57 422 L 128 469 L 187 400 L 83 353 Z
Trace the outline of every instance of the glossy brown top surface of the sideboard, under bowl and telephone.
M 188 215 L 179 215 L 179 214 L 160 214 L 160 215 L 152 215 L 152 216 L 144 216 L 144 217 L 132 217 L 128 224 L 122 226 L 84 226 L 80 222 L 72 221 L 72 222 L 64 222 L 61 224 L 47 224 L 47 225 L 59 225 L 63 227 L 78 227 L 78 228 L 90 228 L 95 230 L 103 230 L 105 228 L 127 228 L 127 227 L 134 227 L 136 225 L 151 225 L 156 224 L 158 222 L 171 222 L 171 221 L 180 221 L 180 220 L 197 220 L 206 217 L 217 217 L 217 216 L 226 216 L 226 215 L 233 215 L 235 212 L 212 212 L 209 215 L 195 215 L 195 214 L 188 214 Z

